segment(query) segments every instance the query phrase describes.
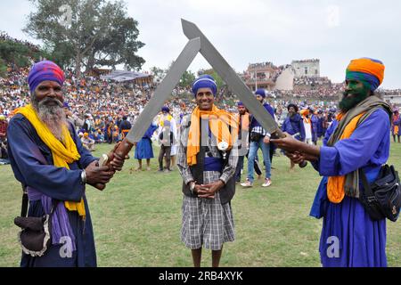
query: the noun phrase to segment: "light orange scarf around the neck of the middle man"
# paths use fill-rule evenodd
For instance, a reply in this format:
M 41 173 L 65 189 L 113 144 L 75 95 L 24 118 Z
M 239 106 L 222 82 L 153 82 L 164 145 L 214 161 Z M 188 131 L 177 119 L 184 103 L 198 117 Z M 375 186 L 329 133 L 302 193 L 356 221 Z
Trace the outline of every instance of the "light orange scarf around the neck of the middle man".
M 209 127 L 212 134 L 217 137 L 218 142 L 228 142 L 228 150 L 233 148 L 233 142 L 238 134 L 238 123 L 233 115 L 225 110 L 218 109 L 213 105 L 211 111 L 200 110 L 196 107 L 192 111 L 191 126 L 188 134 L 188 143 L 186 149 L 186 160 L 188 166 L 196 164 L 196 155 L 200 151 L 200 122 L 201 118 L 209 118 Z M 228 126 L 232 126 L 232 134 Z

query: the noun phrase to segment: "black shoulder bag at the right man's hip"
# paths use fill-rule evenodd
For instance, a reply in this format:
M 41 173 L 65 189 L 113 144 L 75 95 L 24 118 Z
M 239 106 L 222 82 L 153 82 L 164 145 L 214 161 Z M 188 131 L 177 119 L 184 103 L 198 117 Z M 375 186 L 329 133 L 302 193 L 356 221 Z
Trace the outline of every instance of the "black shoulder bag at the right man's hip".
M 401 208 L 401 187 L 398 172 L 393 166 L 384 165 L 377 179 L 369 184 L 364 170 L 359 168 L 359 175 L 364 190 L 359 193 L 359 200 L 373 221 L 387 217 L 396 222 Z

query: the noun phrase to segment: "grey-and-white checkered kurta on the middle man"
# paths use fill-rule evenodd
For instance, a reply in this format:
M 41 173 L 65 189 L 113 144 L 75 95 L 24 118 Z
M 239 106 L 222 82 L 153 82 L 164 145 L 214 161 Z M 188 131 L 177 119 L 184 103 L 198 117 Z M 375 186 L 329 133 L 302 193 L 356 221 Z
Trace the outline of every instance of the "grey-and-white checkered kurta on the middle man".
M 182 126 L 184 127 L 184 126 Z M 181 132 L 185 136 L 185 132 Z M 177 166 L 183 176 L 184 183 L 194 180 L 191 170 L 186 163 L 186 148 L 182 137 L 177 152 Z M 209 150 L 213 157 L 220 158 L 220 153 L 216 146 L 209 140 Z M 223 170 L 223 174 L 218 171 L 203 172 L 203 183 L 216 182 L 218 179 L 225 183 L 235 173 L 238 161 L 238 150 L 234 148 L 230 152 L 228 164 Z M 183 200 L 183 220 L 181 227 L 181 240 L 185 246 L 191 249 L 204 248 L 220 250 L 223 243 L 235 239 L 233 211 L 230 203 L 222 205 L 220 196 L 217 192 L 214 199 L 192 198 L 184 195 Z

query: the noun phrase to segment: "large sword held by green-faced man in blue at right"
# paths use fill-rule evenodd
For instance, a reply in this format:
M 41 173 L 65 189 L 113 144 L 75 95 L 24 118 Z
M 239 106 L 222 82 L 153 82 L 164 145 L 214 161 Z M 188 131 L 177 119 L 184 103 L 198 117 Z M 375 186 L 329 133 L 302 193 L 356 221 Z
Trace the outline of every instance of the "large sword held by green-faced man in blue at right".
M 203 35 L 201 29 L 194 23 L 181 19 L 184 35 L 188 39 L 201 38 L 201 54 L 209 62 L 209 64 L 217 71 L 217 74 L 223 78 L 225 83 L 230 86 L 234 94 L 240 97 L 241 102 L 250 110 L 253 116 L 258 119 L 267 132 L 273 137 L 285 137 L 274 118 L 266 111 L 260 102 L 250 91 L 247 85 L 243 83 L 236 72 L 231 68 L 227 61 L 218 53 L 217 49 L 209 42 L 209 39 Z M 306 167 L 307 162 L 299 164 L 299 167 Z

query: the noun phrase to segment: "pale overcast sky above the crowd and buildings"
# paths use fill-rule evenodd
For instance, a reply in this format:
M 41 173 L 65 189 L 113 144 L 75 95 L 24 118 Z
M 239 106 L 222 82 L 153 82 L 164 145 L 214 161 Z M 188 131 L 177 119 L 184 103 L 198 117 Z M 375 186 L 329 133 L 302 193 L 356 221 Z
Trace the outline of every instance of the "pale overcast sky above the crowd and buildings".
M 152 66 L 167 68 L 187 42 L 181 18 L 190 20 L 216 46 L 233 69 L 250 62 L 319 58 L 321 75 L 341 82 L 351 59 L 371 57 L 386 66 L 382 87 L 401 88 L 401 2 L 397 0 L 146 0 L 126 1 L 139 21 L 139 55 Z M 25 0 L 0 2 L 0 29 L 22 33 L 33 9 Z M 189 69 L 209 68 L 201 55 Z

